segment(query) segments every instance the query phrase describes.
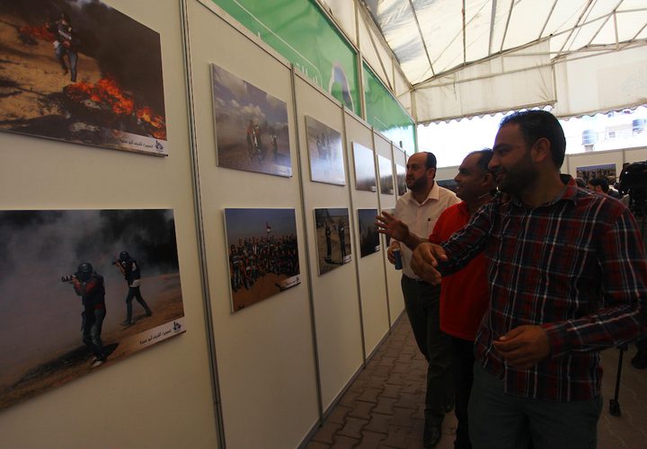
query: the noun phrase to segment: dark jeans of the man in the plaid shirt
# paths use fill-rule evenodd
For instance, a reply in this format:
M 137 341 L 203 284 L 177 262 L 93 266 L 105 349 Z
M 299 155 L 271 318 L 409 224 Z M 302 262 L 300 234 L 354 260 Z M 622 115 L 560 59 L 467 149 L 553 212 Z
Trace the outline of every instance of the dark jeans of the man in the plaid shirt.
M 503 392 L 503 381 L 477 361 L 469 401 L 474 449 L 595 449 L 602 397 L 544 401 Z

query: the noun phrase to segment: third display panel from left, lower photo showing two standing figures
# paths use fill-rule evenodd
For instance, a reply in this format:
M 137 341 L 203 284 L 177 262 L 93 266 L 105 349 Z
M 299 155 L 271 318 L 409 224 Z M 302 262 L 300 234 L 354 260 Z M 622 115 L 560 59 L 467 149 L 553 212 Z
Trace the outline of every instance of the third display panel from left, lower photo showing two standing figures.
M 304 211 L 323 412 L 363 365 L 356 227 L 341 104 L 295 72 Z

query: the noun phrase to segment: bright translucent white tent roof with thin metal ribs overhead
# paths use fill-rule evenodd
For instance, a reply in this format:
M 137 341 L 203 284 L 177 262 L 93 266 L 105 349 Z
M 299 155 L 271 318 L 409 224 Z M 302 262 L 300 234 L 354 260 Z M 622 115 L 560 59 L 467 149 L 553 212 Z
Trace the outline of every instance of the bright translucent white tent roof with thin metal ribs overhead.
M 412 87 L 549 40 L 549 60 L 647 42 L 645 0 L 361 0 Z M 550 39 L 547 39 L 550 38 Z

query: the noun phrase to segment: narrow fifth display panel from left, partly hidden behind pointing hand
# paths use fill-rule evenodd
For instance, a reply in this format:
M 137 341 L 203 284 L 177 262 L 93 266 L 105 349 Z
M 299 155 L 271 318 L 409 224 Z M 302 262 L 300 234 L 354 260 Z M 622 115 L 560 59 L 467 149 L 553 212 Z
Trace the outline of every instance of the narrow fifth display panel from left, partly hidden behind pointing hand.
M 374 134 L 376 153 L 377 153 L 377 170 L 379 172 L 379 206 L 380 212 L 387 210 L 395 212 L 395 203 L 397 202 L 397 186 L 395 184 L 395 164 L 394 155 L 403 154 L 397 146 L 392 145 L 383 136 Z M 394 322 L 404 310 L 404 298 L 400 286 L 402 271 L 394 268 L 394 265 L 388 261 L 386 251 L 390 239 L 386 235 L 381 235 L 381 242 L 384 245 L 383 259 L 385 264 L 386 278 L 386 295 L 388 299 L 389 324 L 393 326 Z

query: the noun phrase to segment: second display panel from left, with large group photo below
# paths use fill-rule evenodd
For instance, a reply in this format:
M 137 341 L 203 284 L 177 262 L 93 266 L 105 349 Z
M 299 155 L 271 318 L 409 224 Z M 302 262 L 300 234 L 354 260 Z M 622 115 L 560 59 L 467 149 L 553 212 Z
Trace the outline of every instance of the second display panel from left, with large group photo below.
M 291 70 L 217 6 L 187 6 L 225 444 L 295 447 L 320 412 Z

